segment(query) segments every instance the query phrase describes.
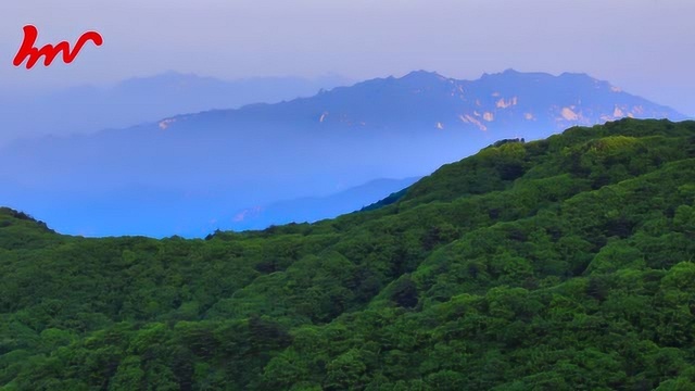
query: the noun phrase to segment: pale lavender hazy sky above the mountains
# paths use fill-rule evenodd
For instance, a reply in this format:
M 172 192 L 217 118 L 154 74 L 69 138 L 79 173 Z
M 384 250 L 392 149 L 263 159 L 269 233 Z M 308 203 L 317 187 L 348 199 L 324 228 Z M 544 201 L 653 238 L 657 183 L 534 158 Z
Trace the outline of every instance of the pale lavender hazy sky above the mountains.
M 0 88 L 112 83 L 167 70 L 222 78 L 437 71 L 584 72 L 695 115 L 693 0 L 22 0 L 0 5 Z M 15 68 L 97 29 L 75 63 Z

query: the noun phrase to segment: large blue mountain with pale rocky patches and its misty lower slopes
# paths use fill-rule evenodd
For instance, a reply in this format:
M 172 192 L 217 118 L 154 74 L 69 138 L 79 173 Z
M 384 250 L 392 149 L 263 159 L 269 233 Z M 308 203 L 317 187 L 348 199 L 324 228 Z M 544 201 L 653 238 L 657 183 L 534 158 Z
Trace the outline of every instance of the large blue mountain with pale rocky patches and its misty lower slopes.
M 200 98 L 203 99 L 202 97 Z M 583 74 L 430 72 L 0 150 L 3 204 L 68 234 L 201 236 L 253 205 L 425 175 L 504 138 L 620 117 L 682 119 Z

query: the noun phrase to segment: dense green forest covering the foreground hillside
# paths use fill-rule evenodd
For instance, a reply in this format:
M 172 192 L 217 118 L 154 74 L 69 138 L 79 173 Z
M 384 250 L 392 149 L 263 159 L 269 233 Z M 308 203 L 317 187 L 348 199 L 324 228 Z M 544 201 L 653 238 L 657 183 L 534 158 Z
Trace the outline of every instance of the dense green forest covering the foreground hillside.
M 3 209 L 0 389 L 695 390 L 694 256 L 695 122 L 505 140 L 204 240 Z

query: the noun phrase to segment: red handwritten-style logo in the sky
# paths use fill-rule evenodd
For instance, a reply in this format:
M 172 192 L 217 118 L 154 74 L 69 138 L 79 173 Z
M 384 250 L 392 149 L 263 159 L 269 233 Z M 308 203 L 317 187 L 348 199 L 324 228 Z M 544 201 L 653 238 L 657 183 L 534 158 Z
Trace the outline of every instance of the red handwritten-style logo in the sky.
M 96 46 L 101 46 L 104 42 L 99 33 L 87 31 L 77 39 L 73 50 L 71 50 L 67 41 L 59 42 L 55 46 L 46 45 L 41 49 L 38 49 L 35 47 L 38 36 L 39 31 L 36 27 L 31 25 L 24 26 L 24 41 L 22 42 L 22 47 L 20 47 L 17 55 L 14 56 L 14 66 L 22 65 L 26 60 L 26 68 L 30 70 L 41 56 L 43 56 L 43 65 L 49 66 L 60 52 L 63 52 L 63 62 L 70 64 L 75 61 L 85 43 L 92 41 Z

